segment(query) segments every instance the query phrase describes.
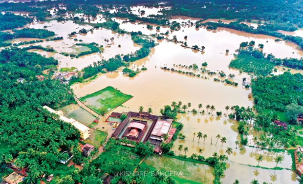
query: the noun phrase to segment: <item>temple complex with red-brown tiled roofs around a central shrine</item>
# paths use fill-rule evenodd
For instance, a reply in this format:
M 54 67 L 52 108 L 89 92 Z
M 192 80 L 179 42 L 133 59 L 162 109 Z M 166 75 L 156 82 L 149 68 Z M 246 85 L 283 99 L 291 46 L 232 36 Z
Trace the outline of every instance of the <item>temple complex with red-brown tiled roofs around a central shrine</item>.
M 128 112 L 122 122 L 117 123 L 116 130 L 111 137 L 114 139 L 127 138 L 135 142 L 149 141 L 154 147 L 154 152 L 162 154 L 161 144 L 172 141 L 176 129 L 172 127 L 172 119 L 164 119 L 161 116 L 148 112 Z M 122 113 L 113 112 L 110 117 L 121 117 Z

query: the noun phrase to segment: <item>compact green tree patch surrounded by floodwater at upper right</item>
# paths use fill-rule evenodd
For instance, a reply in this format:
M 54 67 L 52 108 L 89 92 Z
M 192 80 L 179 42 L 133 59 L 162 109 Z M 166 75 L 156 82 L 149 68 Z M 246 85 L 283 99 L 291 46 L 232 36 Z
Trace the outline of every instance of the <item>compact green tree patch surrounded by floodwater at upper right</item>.
M 264 58 L 239 54 L 230 62 L 229 66 L 243 72 L 266 76 L 272 72 L 275 64 Z

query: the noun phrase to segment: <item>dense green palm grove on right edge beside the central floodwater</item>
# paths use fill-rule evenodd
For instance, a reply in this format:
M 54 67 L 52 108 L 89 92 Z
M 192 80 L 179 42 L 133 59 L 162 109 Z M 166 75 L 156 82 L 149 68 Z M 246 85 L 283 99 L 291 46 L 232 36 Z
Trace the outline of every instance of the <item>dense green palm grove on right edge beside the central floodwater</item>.
M 285 111 L 291 103 L 303 105 L 303 75 L 284 73 L 272 77 L 259 77 L 252 83 L 257 110 Z

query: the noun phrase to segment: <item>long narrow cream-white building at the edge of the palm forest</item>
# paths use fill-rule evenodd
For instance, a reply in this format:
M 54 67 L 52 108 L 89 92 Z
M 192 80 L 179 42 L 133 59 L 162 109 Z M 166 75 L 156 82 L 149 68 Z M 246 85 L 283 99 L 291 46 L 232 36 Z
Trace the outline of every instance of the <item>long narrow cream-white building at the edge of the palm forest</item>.
M 83 125 L 82 123 L 76 121 L 73 118 L 68 118 L 63 115 L 63 112 L 61 110 L 53 110 L 48 106 L 43 106 L 44 109 L 48 110 L 51 113 L 59 115 L 60 120 L 64 121 L 65 123 L 71 124 L 80 132 L 80 138 L 83 140 L 86 140 L 90 136 L 90 130 L 87 126 Z

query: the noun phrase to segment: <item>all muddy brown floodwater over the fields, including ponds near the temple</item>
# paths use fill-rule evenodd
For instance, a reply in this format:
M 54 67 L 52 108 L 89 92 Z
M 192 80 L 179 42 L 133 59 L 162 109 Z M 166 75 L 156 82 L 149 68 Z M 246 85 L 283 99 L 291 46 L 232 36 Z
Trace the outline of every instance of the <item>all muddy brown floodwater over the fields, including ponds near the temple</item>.
M 169 7 L 166 7 L 169 8 Z M 144 10 L 145 13 L 140 12 Z M 160 8 L 148 8 L 144 6 L 131 7 L 131 11 L 139 17 L 148 17 L 151 15 L 159 14 Z M 114 10 L 112 10 L 114 11 Z M 52 12 L 54 14 L 54 12 Z M 71 16 L 71 15 L 68 15 Z M 75 16 L 83 17 L 83 14 L 76 14 Z M 193 114 L 184 110 L 184 113 L 179 113 L 177 122 L 184 125 L 182 133 L 186 136 L 185 140 L 177 139 L 174 141 L 173 151 L 178 155 L 178 146 L 182 145 L 188 147 L 187 155 L 193 153 L 198 154 L 198 150 L 202 149 L 204 157 L 210 157 L 214 152 L 224 154 L 227 147 L 233 148 L 233 153 L 229 155 L 227 161 L 228 168 L 225 171 L 225 177 L 222 182 L 229 184 L 236 179 L 240 183 L 248 184 L 253 179 L 258 178 L 260 182 L 267 182 L 273 184 L 297 184 L 298 176 L 291 170 L 292 158 L 287 151 L 268 151 L 260 150 L 255 147 L 237 147 L 236 140 L 240 140 L 238 134 L 238 122 L 229 120 L 226 117 L 225 106 L 243 106 L 253 107 L 253 99 L 249 96 L 252 91 L 251 88 L 246 89 L 242 86 L 243 78 L 247 81 L 251 80 L 250 74 L 240 72 L 236 69 L 229 68 L 229 63 L 234 59 L 235 51 L 238 49 L 239 44 L 244 41 L 254 40 L 256 42 L 255 48 L 258 44 L 263 44 L 263 52 L 273 54 L 277 58 L 294 57 L 301 58 L 303 51 L 297 49 L 298 45 L 287 42 L 277 41 L 277 37 L 270 37 L 265 35 L 254 35 L 241 31 L 236 31 L 228 28 L 218 28 L 217 30 L 207 30 L 206 27 L 195 28 L 188 22 L 195 22 L 197 18 L 189 17 L 173 17 L 170 21 L 180 22 L 181 28 L 177 31 L 171 31 L 168 26 L 161 26 L 156 30 L 156 25 L 146 24 L 140 21 L 125 22 L 125 19 L 112 18 L 112 20 L 120 23 L 120 28 L 127 32 L 141 31 L 144 35 L 151 34 L 164 34 L 167 31 L 168 35 L 163 35 L 165 39 L 155 40 L 156 46 L 151 49 L 151 53 L 135 62 L 131 62 L 129 68 L 139 73 L 134 77 L 129 77 L 123 74 L 120 68 L 116 72 L 107 72 L 106 74 L 98 74 L 96 77 L 83 83 L 76 83 L 71 86 L 75 95 L 80 98 L 97 91 L 100 91 L 108 86 L 120 90 L 123 93 L 133 96 L 130 100 L 123 105 L 118 106 L 116 109 L 111 110 L 103 116 L 99 125 L 96 128 L 106 127 L 108 133 L 112 132 L 110 126 L 105 125 L 105 118 L 113 111 L 126 112 L 138 111 L 139 106 L 143 106 L 144 110 L 151 108 L 153 114 L 159 115 L 160 109 L 165 105 L 170 105 L 173 101 L 181 101 L 183 104 L 191 103 L 192 109 L 198 109 L 198 104 L 202 104 L 201 110 L 205 110 L 206 105 L 214 105 L 216 111 L 222 111 L 222 115 L 217 117 L 216 113 L 213 114 Z M 85 22 L 100 23 L 104 22 L 102 16 L 96 19 L 89 18 Z M 205 21 L 217 22 L 218 19 L 207 19 Z M 232 22 L 233 20 L 223 20 L 224 23 Z M 256 23 L 247 23 L 253 27 L 258 27 Z M 147 29 L 147 25 L 153 26 L 152 29 Z M 55 52 L 45 52 L 37 49 L 29 50 L 36 52 L 46 57 L 54 57 L 59 61 L 58 68 L 71 68 L 75 67 L 77 70 L 92 65 L 94 62 L 101 61 L 102 59 L 109 59 L 115 55 L 128 55 L 136 52 L 141 46 L 133 43 L 130 34 L 119 34 L 105 28 L 94 28 L 90 25 L 79 25 L 71 20 L 68 21 L 46 21 L 34 22 L 27 25 L 28 28 L 46 29 L 55 32 L 57 37 L 63 37 L 62 40 L 46 41 L 33 43 L 31 45 L 41 45 L 43 47 L 52 47 Z M 79 32 L 81 29 L 89 30 L 87 34 L 75 34 L 69 37 L 68 34 L 72 32 Z M 293 35 L 302 35 L 302 30 L 294 33 Z M 286 34 L 286 33 L 285 33 Z M 112 41 L 107 42 L 106 39 L 114 38 Z M 170 39 L 176 38 L 178 41 L 186 41 L 187 45 L 199 47 L 205 46 L 203 52 L 193 50 L 191 48 L 182 47 L 180 43 L 173 43 Z M 18 38 L 11 40 L 12 43 L 20 43 L 22 41 L 35 40 L 32 38 Z M 81 41 L 80 41 L 81 40 Z M 79 58 L 65 56 L 62 53 L 77 54 L 79 52 L 88 51 L 85 47 L 78 47 L 76 43 L 92 43 L 102 45 L 103 52 L 93 53 L 89 55 L 80 56 Z M 29 44 L 22 45 L 26 47 Z M 229 50 L 229 52 L 226 52 Z M 207 63 L 204 68 L 218 73 L 223 71 L 227 76 L 228 74 L 235 74 L 232 79 L 237 82 L 238 86 L 228 85 L 222 82 L 214 81 L 218 75 L 209 75 L 202 73 L 200 70 L 191 70 L 184 68 L 196 64 L 198 68 L 202 67 L 202 63 Z M 146 71 L 141 71 L 146 67 Z M 192 71 L 201 76 L 190 76 L 187 74 L 179 74 L 163 70 L 163 67 L 174 68 L 176 70 Z M 300 70 L 288 69 L 285 67 L 276 67 L 277 71 L 273 74 L 283 74 L 286 71 L 292 74 L 301 73 Z M 58 110 L 63 110 L 64 114 L 68 117 L 75 118 L 85 125 L 89 125 L 94 119 L 87 111 L 80 108 L 78 105 L 69 105 Z M 207 138 L 198 139 L 194 138 L 194 133 L 198 131 L 207 135 Z M 216 136 L 220 134 L 226 137 L 226 143 L 217 143 Z M 95 143 L 94 143 L 95 144 Z M 249 140 L 251 146 L 253 141 Z M 98 143 L 96 143 L 98 145 Z M 262 155 L 263 161 L 260 163 L 259 168 L 257 158 Z M 279 164 L 281 169 L 273 170 L 271 168 L 276 166 L 275 158 L 282 156 L 283 160 Z M 171 163 L 172 158 L 167 157 L 150 157 L 145 160 L 145 164 L 158 167 L 159 169 L 167 170 L 167 163 Z M 155 164 L 156 163 L 156 164 Z M 158 165 L 160 163 L 160 165 Z M 185 177 L 186 180 L 195 179 L 194 181 L 202 183 L 211 183 L 213 177 L 211 175 L 212 168 L 202 164 L 184 164 L 184 161 L 174 159 L 173 166 L 182 168 L 190 177 Z M 188 170 L 187 168 L 188 167 Z M 203 175 L 204 178 L 197 176 Z

